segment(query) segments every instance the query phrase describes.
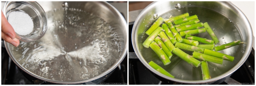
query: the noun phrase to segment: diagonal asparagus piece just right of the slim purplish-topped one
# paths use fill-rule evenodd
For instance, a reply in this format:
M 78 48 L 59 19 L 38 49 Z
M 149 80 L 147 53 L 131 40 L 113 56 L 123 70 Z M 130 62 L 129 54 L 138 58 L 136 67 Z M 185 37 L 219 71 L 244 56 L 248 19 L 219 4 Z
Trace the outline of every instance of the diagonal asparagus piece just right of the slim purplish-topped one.
M 162 31 L 159 33 L 160 38 L 163 40 L 164 45 L 172 52 L 172 50 L 175 48 L 172 42 L 168 39 L 168 37 L 165 35 L 165 33 Z

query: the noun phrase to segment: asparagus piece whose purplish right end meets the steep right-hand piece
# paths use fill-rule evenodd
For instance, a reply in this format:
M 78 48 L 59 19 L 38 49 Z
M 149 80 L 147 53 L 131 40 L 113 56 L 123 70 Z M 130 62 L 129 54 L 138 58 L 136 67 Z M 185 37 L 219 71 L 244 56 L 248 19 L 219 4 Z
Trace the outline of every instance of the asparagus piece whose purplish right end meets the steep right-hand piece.
M 213 44 L 213 40 L 201 38 L 201 37 L 196 37 L 196 36 L 191 36 L 191 35 L 186 35 L 186 39 L 191 39 L 191 40 L 197 40 L 198 42 L 202 42 L 204 44 Z

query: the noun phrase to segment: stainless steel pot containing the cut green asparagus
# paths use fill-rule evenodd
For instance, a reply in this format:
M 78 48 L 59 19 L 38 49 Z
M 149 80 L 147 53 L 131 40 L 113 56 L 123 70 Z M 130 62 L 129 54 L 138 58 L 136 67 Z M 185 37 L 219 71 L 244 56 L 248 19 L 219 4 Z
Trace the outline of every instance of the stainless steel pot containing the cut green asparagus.
M 169 18 L 188 12 L 189 15 L 197 15 L 200 22 L 208 22 L 220 43 L 215 46 L 229 43 L 235 40 L 244 41 L 243 45 L 231 47 L 222 51 L 235 57 L 233 62 L 223 61 L 223 64 L 208 62 L 212 78 L 202 80 L 201 67 L 192 67 L 187 62 L 173 55 L 171 63 L 164 66 L 151 48 L 145 48 L 142 43 L 147 39 L 145 32 L 157 18 Z M 196 34 L 196 36 L 211 39 L 208 33 Z M 154 74 L 164 78 L 164 81 L 181 83 L 206 83 L 211 84 L 219 80 L 224 81 L 236 69 L 238 69 L 249 56 L 252 49 L 252 28 L 244 13 L 230 2 L 153 2 L 149 4 L 137 17 L 132 29 L 132 45 L 140 61 Z M 192 55 L 192 52 L 186 51 Z M 148 65 L 154 61 L 169 73 L 175 76 L 165 76 Z

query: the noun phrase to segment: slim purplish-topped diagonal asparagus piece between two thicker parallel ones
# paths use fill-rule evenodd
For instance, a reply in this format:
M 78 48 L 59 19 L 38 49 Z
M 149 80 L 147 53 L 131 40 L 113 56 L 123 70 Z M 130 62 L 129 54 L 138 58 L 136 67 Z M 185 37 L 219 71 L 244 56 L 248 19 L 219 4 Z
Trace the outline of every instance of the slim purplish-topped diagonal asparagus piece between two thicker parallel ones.
M 159 36 L 155 38 L 156 43 L 164 50 L 164 53 L 171 59 L 172 53 L 171 51 L 164 45 L 164 42 L 161 40 Z

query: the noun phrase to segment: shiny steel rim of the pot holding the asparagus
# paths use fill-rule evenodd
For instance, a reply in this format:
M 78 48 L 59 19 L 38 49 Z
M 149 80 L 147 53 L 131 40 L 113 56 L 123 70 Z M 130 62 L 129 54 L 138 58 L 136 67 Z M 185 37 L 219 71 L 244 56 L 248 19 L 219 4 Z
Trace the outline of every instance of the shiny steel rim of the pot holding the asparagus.
M 251 49 L 252 49 L 252 40 L 253 40 L 252 27 L 250 25 L 250 22 L 246 18 L 246 16 L 244 15 L 244 13 L 239 8 L 237 8 L 234 4 L 232 4 L 231 2 L 220 2 L 220 3 L 231 5 L 232 8 L 234 8 L 236 11 L 238 11 L 239 14 L 242 15 L 243 21 L 245 21 L 245 23 L 246 23 L 246 26 L 247 26 L 246 28 L 250 28 L 250 29 L 246 29 L 246 30 L 250 30 L 250 33 L 249 33 L 249 35 L 250 35 L 249 40 L 250 41 L 249 41 L 249 43 L 247 43 L 247 48 L 246 48 L 246 50 L 244 52 L 244 56 L 241 58 L 241 60 L 233 68 L 228 70 L 226 73 L 218 75 L 218 76 L 213 77 L 213 78 L 208 79 L 208 80 L 194 80 L 194 81 L 192 81 L 192 80 L 181 80 L 181 79 L 171 78 L 171 77 L 168 77 L 166 75 L 163 75 L 163 74 L 159 73 L 158 71 L 156 71 L 155 69 L 150 67 L 148 62 L 140 54 L 138 40 L 135 40 L 135 38 L 138 38 L 138 36 L 136 35 L 137 31 L 135 30 L 135 29 L 138 28 L 138 25 L 139 25 L 138 21 L 144 17 L 143 14 L 146 14 L 146 12 L 148 12 L 150 10 L 149 8 L 153 8 L 154 6 L 156 6 L 157 3 L 158 2 L 153 2 L 153 3 L 149 4 L 145 9 L 143 9 L 143 11 L 140 12 L 140 14 L 138 15 L 138 17 L 136 18 L 136 20 L 134 22 L 133 29 L 132 29 L 132 46 L 133 46 L 135 54 L 137 55 L 139 60 L 143 63 L 143 65 L 146 66 L 150 71 L 152 71 L 156 75 L 158 75 L 160 77 L 163 77 L 163 78 L 165 78 L 167 80 L 170 80 L 170 81 L 181 82 L 181 83 L 198 84 L 198 83 L 214 82 L 216 80 L 225 78 L 228 75 L 231 75 L 234 71 L 236 71 L 238 68 L 240 68 L 243 65 L 243 63 L 246 61 L 246 59 L 248 58 L 248 56 L 251 52 Z

